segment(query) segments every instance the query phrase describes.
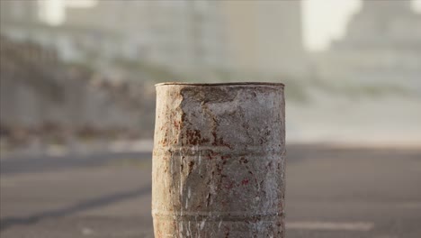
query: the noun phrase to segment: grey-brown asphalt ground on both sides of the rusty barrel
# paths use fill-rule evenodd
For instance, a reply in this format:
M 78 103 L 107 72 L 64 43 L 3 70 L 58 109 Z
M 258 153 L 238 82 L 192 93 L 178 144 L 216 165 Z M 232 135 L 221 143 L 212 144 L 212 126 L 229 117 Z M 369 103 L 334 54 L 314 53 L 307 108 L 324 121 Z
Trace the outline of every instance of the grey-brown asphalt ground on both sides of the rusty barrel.
M 421 150 L 290 146 L 287 237 L 421 237 Z M 148 153 L 2 158 L 1 237 L 153 237 Z

